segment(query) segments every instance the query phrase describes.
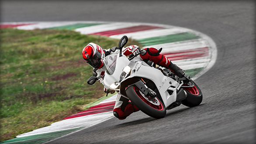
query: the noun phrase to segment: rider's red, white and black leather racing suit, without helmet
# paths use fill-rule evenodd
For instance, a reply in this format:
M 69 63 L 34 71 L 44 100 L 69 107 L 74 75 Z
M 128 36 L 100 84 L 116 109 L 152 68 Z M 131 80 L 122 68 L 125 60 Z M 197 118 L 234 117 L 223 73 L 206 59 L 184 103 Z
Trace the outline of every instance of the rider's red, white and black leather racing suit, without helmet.
M 133 47 L 135 47 L 135 45 L 125 47 L 124 50 L 122 50 L 123 54 L 125 54 L 125 56 L 132 54 L 131 50 Z M 109 54 L 119 53 L 119 50 L 113 51 L 111 49 L 108 49 L 104 51 L 106 56 Z M 183 75 L 185 74 L 185 72 L 182 69 L 173 64 L 166 56 L 164 56 L 163 54 L 159 54 L 159 51 L 154 47 L 143 49 L 142 54 L 138 55 L 137 57 L 140 57 L 140 59 L 144 61 L 151 60 L 155 64 L 169 68 L 179 77 L 183 77 Z M 100 69 L 93 69 L 93 75 L 102 76 L 104 75 L 104 73 L 105 67 L 102 67 Z M 99 82 L 103 84 L 103 78 L 101 78 Z M 115 117 L 117 117 L 120 120 L 123 120 L 126 117 L 128 117 L 131 113 L 136 111 L 139 111 L 139 109 L 135 107 L 135 105 L 131 104 L 131 102 L 129 102 L 127 98 L 122 97 L 120 94 L 118 94 L 113 110 L 113 114 Z

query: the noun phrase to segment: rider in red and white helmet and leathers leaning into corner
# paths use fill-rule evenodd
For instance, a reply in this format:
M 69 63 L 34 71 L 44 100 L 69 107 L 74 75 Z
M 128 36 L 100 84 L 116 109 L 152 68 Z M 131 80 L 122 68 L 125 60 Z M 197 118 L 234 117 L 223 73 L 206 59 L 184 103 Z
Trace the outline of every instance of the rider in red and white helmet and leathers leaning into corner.
M 91 66 L 93 67 L 93 75 L 94 76 L 103 76 L 105 73 L 105 67 L 103 66 L 103 59 L 109 54 L 118 54 L 119 50 L 118 47 L 112 47 L 108 50 L 103 50 L 99 45 L 94 43 L 89 43 L 86 47 L 83 48 L 82 54 L 83 59 Z M 137 55 L 139 54 L 140 48 L 136 45 L 131 45 L 128 47 L 125 47 L 124 50 L 122 50 L 123 54 L 125 56 L 128 56 L 130 54 Z M 153 63 L 158 64 L 162 67 L 169 68 L 172 70 L 178 77 L 183 77 L 185 74 L 185 71 L 180 69 L 180 67 L 177 67 L 175 64 L 173 64 L 166 56 L 163 54 L 159 54 L 161 50 L 157 50 L 154 47 L 145 48 L 142 50 L 142 53 L 139 54 L 137 57 L 140 57 L 141 60 L 148 61 L 151 60 Z M 103 83 L 103 77 L 99 79 L 99 82 L 104 85 Z M 104 86 L 104 92 L 105 93 L 111 93 L 114 94 L 114 90 L 107 90 Z M 133 105 L 129 100 L 125 97 L 122 97 L 120 94 L 118 94 L 113 114 L 115 117 L 117 117 L 120 120 L 125 119 L 128 117 L 131 113 L 139 111 L 135 105 Z

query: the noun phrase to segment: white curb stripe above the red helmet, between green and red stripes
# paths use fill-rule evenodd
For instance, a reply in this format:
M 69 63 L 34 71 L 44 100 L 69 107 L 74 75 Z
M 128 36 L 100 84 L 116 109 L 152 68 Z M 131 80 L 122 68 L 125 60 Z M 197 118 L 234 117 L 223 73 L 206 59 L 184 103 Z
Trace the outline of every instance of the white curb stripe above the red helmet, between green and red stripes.
M 80 32 L 81 34 L 90 34 L 90 33 L 98 33 L 102 31 L 108 31 L 108 30 L 116 30 L 126 27 L 133 27 L 138 26 L 140 24 L 138 23 L 107 23 L 107 24 L 100 24 L 97 26 L 91 26 L 91 27 L 82 27 L 78 28 L 75 31 Z

